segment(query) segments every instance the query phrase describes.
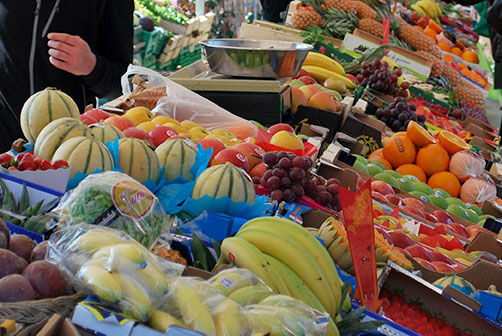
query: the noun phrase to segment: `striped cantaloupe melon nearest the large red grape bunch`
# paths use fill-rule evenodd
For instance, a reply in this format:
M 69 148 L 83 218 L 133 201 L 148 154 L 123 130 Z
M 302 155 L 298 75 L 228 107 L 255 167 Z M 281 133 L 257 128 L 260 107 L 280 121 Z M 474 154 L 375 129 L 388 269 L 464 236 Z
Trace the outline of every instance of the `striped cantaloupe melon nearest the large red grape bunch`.
M 251 205 L 256 198 L 249 176 L 229 162 L 209 167 L 197 178 L 192 198 L 199 199 L 206 195 L 216 199 L 228 196 L 236 203 Z

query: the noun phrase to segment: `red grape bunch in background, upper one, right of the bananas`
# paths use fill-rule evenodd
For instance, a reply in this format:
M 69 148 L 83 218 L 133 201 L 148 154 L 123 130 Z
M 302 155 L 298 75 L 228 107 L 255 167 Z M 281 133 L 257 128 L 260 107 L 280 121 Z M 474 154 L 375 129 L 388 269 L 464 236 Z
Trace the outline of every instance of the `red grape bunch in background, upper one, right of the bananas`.
M 402 82 L 401 88 L 398 86 L 398 79 L 403 73 L 401 69 L 395 69 L 392 73 L 387 62 L 375 60 L 373 62 L 362 62 L 361 71 L 357 75 L 357 80 L 363 86 L 368 85 L 371 89 L 392 94 L 395 97 L 408 97 L 410 83 Z

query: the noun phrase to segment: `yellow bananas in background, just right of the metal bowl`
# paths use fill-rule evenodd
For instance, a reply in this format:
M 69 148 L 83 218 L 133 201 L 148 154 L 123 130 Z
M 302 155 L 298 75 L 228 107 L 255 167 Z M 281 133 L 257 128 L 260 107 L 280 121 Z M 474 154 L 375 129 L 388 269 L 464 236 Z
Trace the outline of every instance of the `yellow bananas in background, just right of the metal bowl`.
M 302 69 L 307 71 L 320 83 L 324 83 L 328 78 L 334 78 L 345 84 L 349 90 L 356 87 L 350 79 L 345 77 L 345 70 L 340 63 L 321 53 L 309 52 L 303 62 Z

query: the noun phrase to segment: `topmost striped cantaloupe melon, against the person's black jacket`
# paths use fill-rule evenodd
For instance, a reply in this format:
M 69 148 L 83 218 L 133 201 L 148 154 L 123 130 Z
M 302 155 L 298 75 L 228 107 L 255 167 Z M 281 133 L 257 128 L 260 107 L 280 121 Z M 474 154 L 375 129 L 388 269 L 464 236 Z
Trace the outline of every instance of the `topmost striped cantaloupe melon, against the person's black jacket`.
M 66 93 L 47 88 L 33 94 L 24 103 L 21 110 L 21 129 L 26 139 L 35 143 L 45 126 L 63 117 L 80 120 L 77 104 Z

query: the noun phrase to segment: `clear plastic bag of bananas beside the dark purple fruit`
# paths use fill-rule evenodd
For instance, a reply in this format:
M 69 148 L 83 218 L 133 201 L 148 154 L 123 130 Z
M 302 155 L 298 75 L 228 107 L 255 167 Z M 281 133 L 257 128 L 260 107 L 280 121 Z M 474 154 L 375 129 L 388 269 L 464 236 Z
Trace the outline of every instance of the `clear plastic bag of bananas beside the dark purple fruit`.
M 122 231 L 79 224 L 49 239 L 48 260 L 77 291 L 137 321 L 146 321 L 184 267 L 163 260 Z

